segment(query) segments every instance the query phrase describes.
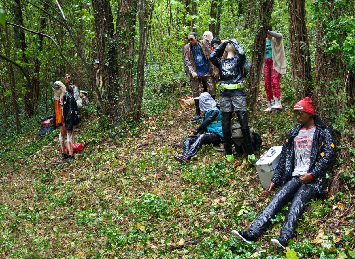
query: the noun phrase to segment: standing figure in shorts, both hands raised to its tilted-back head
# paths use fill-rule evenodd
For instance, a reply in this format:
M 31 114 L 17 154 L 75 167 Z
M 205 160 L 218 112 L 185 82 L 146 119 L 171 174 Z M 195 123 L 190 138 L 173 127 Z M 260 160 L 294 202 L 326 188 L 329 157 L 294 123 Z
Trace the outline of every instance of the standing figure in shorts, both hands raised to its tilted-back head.
M 220 58 L 221 54 L 222 58 Z M 209 60 L 218 68 L 221 90 L 220 106 L 222 112 L 222 129 L 224 149 L 228 162 L 233 160 L 232 134 L 230 124 L 233 112 L 237 113 L 248 154 L 253 154 L 253 147 L 246 117 L 246 96 L 243 85 L 245 52 L 236 39 L 228 39 L 209 55 Z

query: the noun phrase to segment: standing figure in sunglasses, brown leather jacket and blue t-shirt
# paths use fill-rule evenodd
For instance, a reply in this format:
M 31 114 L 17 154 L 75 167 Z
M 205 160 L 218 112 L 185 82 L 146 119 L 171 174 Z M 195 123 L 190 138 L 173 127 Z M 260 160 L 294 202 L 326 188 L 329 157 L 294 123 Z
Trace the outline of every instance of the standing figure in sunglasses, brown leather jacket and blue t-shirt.
M 200 96 L 199 83 L 202 80 L 206 83 L 209 94 L 215 99 L 218 70 L 208 58 L 212 52 L 211 44 L 207 40 L 198 40 L 195 32 L 190 32 L 187 40 L 189 43 L 184 46 L 184 68 L 190 81 L 192 96 Z M 192 118 L 193 122 L 202 119 L 198 99 L 195 99 L 195 108 L 196 117 Z

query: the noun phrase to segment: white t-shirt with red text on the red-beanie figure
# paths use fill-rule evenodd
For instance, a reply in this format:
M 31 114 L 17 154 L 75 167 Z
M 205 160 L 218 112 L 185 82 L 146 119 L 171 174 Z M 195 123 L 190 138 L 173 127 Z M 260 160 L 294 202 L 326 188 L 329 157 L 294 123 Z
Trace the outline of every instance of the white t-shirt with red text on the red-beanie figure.
M 295 150 L 295 169 L 292 176 L 301 176 L 308 173 L 311 164 L 311 151 L 313 144 L 313 134 L 316 125 L 309 128 L 301 128 L 293 141 Z

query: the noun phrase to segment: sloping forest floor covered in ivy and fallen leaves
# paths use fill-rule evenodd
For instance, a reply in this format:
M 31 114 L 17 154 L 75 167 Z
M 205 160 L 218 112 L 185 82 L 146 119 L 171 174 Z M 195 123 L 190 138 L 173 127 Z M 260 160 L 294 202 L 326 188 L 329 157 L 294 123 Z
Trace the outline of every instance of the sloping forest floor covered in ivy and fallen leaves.
M 336 167 L 345 173 L 339 192 L 308 205 L 287 254 L 269 246 L 287 207 L 247 246 L 231 230 L 246 229 L 272 198 L 261 195 L 255 161 L 226 163 L 204 146 L 188 165 L 176 162 L 195 111 L 178 109 L 176 94 L 150 96 L 141 121 L 118 135 L 100 126 L 91 103 L 73 135 L 89 143 L 69 165 L 55 164 L 58 130 L 42 139 L 33 129 L 3 132 L 1 258 L 355 258 L 350 160 Z M 282 113 L 264 108 L 260 101 L 252 122 L 263 139 L 256 158 L 296 122 L 286 102 Z

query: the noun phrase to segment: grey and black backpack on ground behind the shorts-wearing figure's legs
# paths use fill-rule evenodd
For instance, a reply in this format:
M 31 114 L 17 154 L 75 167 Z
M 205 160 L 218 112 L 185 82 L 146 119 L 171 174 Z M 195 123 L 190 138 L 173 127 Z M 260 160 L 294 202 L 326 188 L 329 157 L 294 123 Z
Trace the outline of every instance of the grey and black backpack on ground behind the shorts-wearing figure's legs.
M 255 132 L 253 127 L 249 127 L 249 133 L 250 133 L 253 149 L 257 150 L 262 146 L 262 140 L 260 134 Z M 239 123 L 232 125 L 232 139 L 234 142 L 235 152 L 237 152 L 238 154 L 248 153 L 245 148 L 244 138 Z

